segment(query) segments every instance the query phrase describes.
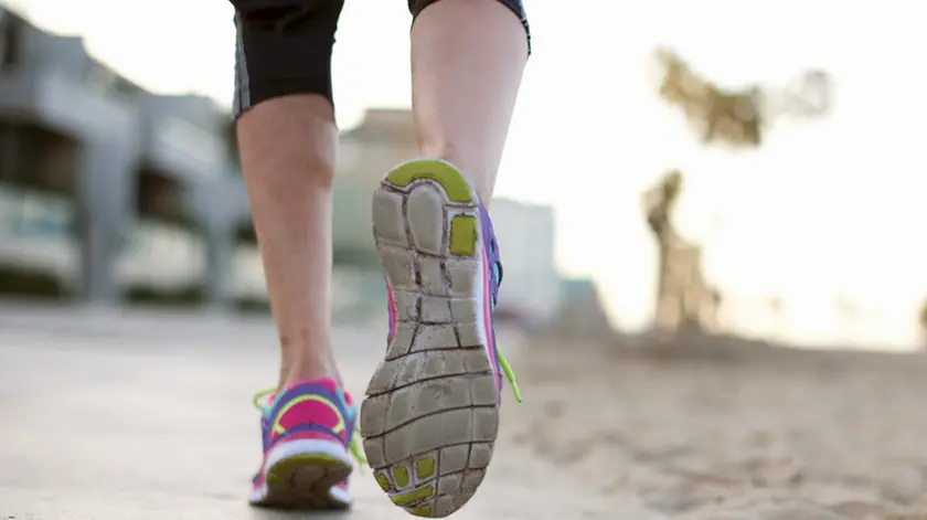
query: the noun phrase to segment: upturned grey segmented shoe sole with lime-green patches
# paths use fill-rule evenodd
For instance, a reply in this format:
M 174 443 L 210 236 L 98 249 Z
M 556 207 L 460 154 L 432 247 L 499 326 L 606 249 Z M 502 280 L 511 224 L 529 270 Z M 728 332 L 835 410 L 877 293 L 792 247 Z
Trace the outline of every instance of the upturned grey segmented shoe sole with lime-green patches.
M 479 198 L 454 166 L 409 161 L 374 192 L 373 227 L 397 323 L 361 406 L 364 452 L 393 503 L 446 517 L 499 429 Z

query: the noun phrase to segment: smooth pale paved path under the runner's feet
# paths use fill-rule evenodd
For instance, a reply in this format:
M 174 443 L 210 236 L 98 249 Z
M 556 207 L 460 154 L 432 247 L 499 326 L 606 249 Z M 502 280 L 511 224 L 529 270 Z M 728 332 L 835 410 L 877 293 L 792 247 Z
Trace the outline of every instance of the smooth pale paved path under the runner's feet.
M 381 359 L 384 330 L 334 330 L 355 394 Z M 352 477 L 348 513 L 246 505 L 260 460 L 251 399 L 273 384 L 276 362 L 266 319 L 0 304 L 0 519 L 412 518 L 369 468 Z M 512 421 L 518 414 L 503 413 L 488 477 L 455 518 L 614 518 L 573 475 L 516 445 Z

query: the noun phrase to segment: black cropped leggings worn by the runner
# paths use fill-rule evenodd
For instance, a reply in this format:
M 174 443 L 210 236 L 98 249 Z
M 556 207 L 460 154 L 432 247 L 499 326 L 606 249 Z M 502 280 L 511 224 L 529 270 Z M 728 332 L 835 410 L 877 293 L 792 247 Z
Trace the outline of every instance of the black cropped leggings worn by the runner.
M 331 53 L 344 0 L 231 0 L 235 7 L 237 117 L 254 105 L 291 94 L 331 92 Z M 379 0 L 377 0 L 379 1 Z M 408 0 L 413 17 L 437 0 Z M 524 25 L 522 0 L 499 0 Z

